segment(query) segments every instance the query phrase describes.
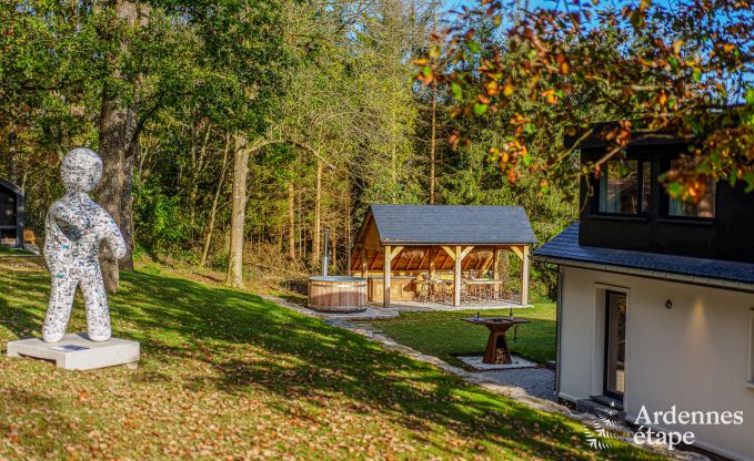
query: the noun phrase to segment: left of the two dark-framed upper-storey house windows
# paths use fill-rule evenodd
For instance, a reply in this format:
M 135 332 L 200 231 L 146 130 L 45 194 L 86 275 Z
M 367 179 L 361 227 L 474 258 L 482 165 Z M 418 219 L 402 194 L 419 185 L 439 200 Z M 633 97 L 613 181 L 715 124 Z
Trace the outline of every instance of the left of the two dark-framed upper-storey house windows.
M 607 161 L 600 177 L 597 212 L 626 216 L 647 214 L 651 189 L 651 162 L 625 158 Z

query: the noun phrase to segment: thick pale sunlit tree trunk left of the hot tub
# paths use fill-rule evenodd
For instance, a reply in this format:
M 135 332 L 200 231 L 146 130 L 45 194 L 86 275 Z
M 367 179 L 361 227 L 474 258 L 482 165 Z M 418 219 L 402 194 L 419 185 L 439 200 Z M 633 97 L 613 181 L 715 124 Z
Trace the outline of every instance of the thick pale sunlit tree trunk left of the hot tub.
M 247 180 L 249 177 L 249 145 L 241 134 L 234 135 L 233 203 L 230 226 L 230 254 L 227 283 L 243 287 L 243 227 L 247 215 Z

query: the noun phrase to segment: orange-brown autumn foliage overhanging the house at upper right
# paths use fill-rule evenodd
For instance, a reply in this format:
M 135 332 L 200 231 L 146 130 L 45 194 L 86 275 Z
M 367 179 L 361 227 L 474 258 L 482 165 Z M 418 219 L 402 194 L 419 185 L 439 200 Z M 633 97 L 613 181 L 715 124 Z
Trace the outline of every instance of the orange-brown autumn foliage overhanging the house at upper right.
M 452 116 L 466 121 L 459 126 L 500 123 L 504 141 L 490 153 L 511 182 L 539 172 L 546 189 L 599 175 L 632 141 L 668 136 L 691 147 L 662 181 L 694 199 L 710 180 L 754 189 L 752 37 L 748 0 L 642 0 L 620 11 L 596 0 L 533 10 L 482 0 L 433 35 L 418 80 L 448 88 Z M 596 123 L 603 129 L 592 133 Z M 585 133 L 607 147 L 581 165 L 573 153 Z M 459 129 L 449 142 L 469 136 Z

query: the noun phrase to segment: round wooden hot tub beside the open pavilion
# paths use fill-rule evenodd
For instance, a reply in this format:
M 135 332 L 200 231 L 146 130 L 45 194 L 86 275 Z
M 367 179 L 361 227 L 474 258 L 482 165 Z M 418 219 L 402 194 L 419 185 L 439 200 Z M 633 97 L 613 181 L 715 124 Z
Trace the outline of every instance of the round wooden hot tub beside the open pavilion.
M 366 280 L 361 277 L 309 277 L 309 308 L 323 313 L 360 313 L 366 308 Z

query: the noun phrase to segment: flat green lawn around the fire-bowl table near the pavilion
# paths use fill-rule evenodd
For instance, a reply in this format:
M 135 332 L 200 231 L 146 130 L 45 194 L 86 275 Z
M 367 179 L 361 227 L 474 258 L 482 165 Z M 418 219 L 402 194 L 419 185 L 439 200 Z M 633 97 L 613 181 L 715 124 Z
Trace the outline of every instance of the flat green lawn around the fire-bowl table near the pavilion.
M 462 366 L 453 355 L 482 355 L 490 334 L 483 326 L 461 320 L 474 314 L 476 310 L 401 313 L 400 317 L 373 321 L 372 326 L 402 345 Z M 480 315 L 507 317 L 510 309 L 482 310 Z M 513 354 L 539 363 L 554 360 L 555 304 L 540 303 L 534 307 L 513 309 L 513 315 L 532 320 L 519 327 L 516 340 L 513 340 L 513 330 L 510 330 L 509 340 Z

